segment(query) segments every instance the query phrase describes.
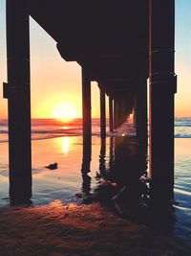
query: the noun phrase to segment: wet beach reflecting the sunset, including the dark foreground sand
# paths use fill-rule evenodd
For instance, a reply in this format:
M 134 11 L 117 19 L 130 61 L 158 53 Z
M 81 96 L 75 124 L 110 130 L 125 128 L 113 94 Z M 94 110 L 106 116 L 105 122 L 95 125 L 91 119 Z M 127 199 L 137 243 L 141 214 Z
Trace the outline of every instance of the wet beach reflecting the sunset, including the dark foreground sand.
M 1 143 L 0 255 L 190 255 L 189 185 L 180 189 L 180 183 L 189 174 L 190 140 L 176 139 L 175 198 L 178 204 L 174 206 L 176 221 L 170 233 L 125 220 L 99 202 L 85 205 L 82 198 L 75 197 L 84 191 L 81 142 L 81 136 L 32 141 L 32 205 L 18 207 L 8 204 L 8 143 Z M 88 173 L 91 195 L 100 185 L 97 172 L 100 175 L 104 166 L 107 173 L 111 167 L 109 137 L 105 146 L 101 158 L 100 138 L 93 137 L 91 172 Z M 134 145 L 130 143 L 130 146 L 132 150 Z M 135 167 L 133 155 L 132 168 Z M 53 162 L 58 163 L 56 170 L 45 168 Z

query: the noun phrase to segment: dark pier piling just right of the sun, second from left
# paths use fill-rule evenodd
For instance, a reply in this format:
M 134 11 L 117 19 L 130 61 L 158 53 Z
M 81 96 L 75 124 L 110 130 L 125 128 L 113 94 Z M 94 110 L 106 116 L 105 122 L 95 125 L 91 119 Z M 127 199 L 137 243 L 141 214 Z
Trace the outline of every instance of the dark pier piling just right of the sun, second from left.
M 82 115 L 83 115 L 83 164 L 89 165 L 92 154 L 92 107 L 91 81 L 88 72 L 82 66 Z M 83 169 L 83 167 L 82 167 Z

